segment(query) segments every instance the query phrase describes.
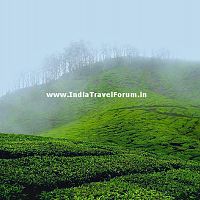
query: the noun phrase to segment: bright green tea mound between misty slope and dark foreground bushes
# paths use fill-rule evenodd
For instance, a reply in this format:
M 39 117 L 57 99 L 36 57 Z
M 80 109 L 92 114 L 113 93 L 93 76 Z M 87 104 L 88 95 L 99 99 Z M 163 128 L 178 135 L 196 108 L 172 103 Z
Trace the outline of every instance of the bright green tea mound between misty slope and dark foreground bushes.
M 165 105 L 112 108 L 52 129 L 45 135 L 199 160 L 199 117 L 192 117 L 191 110 Z

